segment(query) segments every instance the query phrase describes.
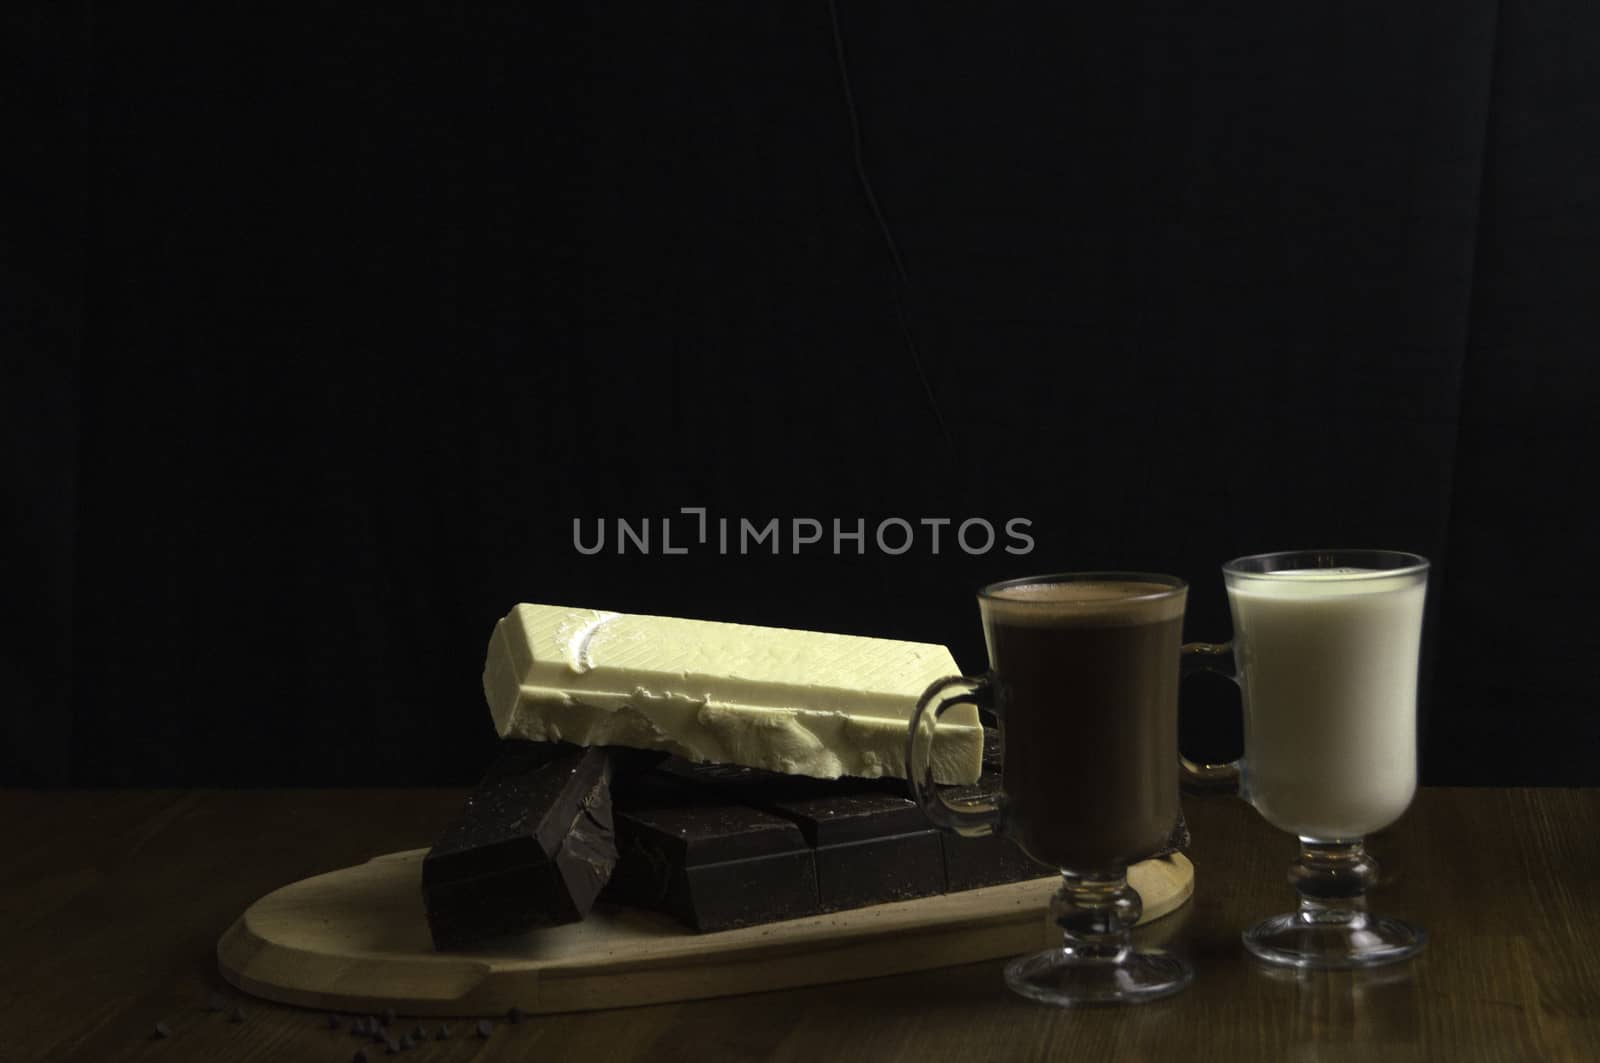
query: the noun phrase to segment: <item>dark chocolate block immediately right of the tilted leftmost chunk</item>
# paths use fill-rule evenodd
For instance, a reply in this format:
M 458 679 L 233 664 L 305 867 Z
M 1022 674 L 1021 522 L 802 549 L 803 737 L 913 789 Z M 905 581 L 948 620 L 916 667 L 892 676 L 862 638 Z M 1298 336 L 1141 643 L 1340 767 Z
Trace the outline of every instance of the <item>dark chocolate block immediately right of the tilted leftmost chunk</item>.
M 618 800 L 606 900 L 702 932 L 816 913 L 811 848 L 782 816 L 656 772 L 619 784 Z

